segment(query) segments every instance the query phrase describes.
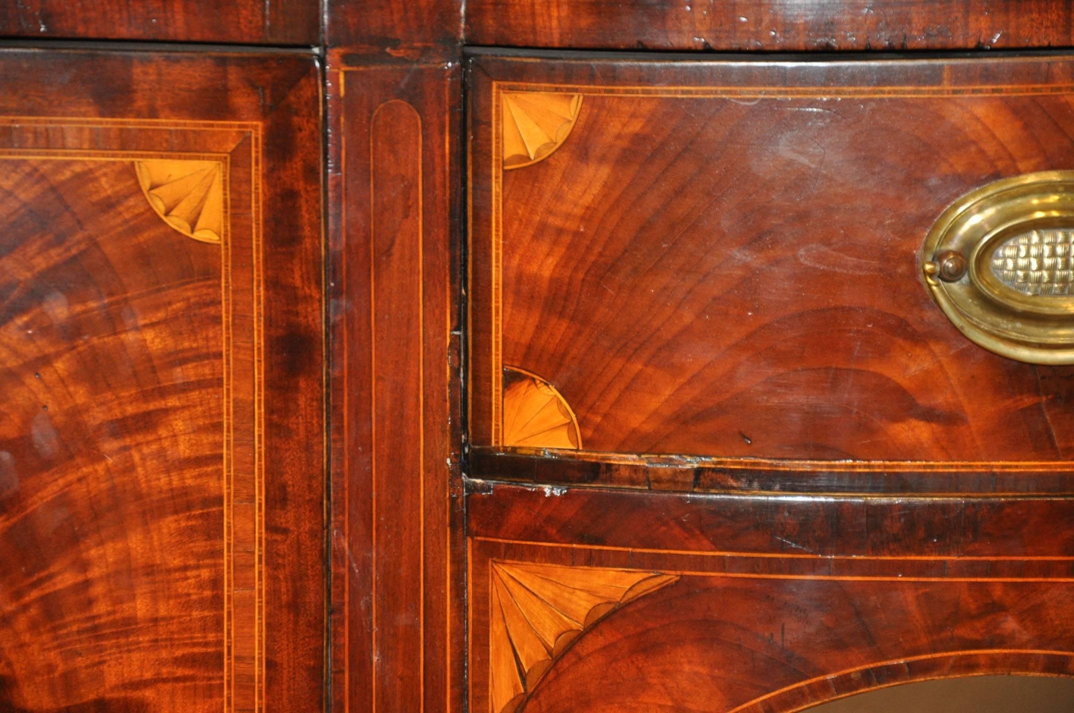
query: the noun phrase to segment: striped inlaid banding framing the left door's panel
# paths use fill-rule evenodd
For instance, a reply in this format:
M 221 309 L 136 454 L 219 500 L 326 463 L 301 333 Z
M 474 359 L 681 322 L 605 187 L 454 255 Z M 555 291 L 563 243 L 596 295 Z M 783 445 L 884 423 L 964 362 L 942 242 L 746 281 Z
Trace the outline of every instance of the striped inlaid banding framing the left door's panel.
M 0 160 L 54 160 L 54 161 L 113 161 L 131 164 L 132 175 L 135 171 L 135 163 L 142 161 L 206 161 L 215 162 L 220 166 L 222 191 L 221 205 L 221 233 L 219 243 L 213 241 L 202 241 L 206 243 L 204 249 L 214 249 L 213 244 L 219 245 L 221 251 L 221 347 L 223 354 L 222 375 L 222 477 L 221 489 L 223 495 L 223 623 L 222 650 L 223 650 L 223 710 L 224 713 L 233 713 L 237 708 L 250 707 L 260 713 L 265 708 L 264 682 L 265 682 L 265 616 L 264 616 L 264 364 L 263 364 L 263 246 L 262 246 L 262 206 L 261 206 L 261 147 L 262 147 L 262 126 L 255 121 L 189 121 L 169 119 L 102 119 L 82 117 L 24 117 L 24 116 L 2 116 L 0 127 L 10 127 L 17 130 L 20 127 L 78 127 L 83 129 L 115 129 L 121 128 L 126 131 L 145 133 L 146 136 L 159 136 L 165 139 L 165 132 L 198 132 L 194 135 L 200 140 L 198 143 L 205 143 L 206 147 L 212 146 L 207 151 L 151 151 L 151 150 L 122 150 L 122 149 L 81 149 L 64 148 L 57 149 L 48 146 L 26 147 L 26 141 L 20 148 L 0 149 Z M 107 134 L 104 134 L 107 135 Z M 212 143 L 211 143 L 212 142 Z M 147 142 L 151 143 L 151 141 Z M 159 143 L 159 142 L 158 142 Z M 243 146 L 243 144 L 247 146 Z M 220 149 L 224 150 L 221 151 Z M 232 256 L 235 249 L 231 238 L 231 162 L 235 150 L 248 150 L 250 188 L 249 188 L 249 215 L 250 215 L 250 245 L 243 248 L 248 252 L 251 277 L 247 293 L 251 303 L 251 319 L 240 329 L 248 331 L 250 339 L 250 351 L 242 354 L 235 352 L 235 310 L 233 308 L 236 295 L 232 274 Z M 231 151 L 231 152 L 227 152 Z M 135 181 L 139 183 L 139 181 Z M 244 296 L 244 300 L 247 299 Z M 240 340 L 242 343 L 243 340 Z M 234 362 L 236 358 L 246 361 L 252 370 L 252 380 L 248 388 L 249 395 L 236 399 Z M 243 446 L 242 462 L 244 467 L 236 468 L 235 464 L 235 418 L 234 408 L 236 401 L 249 399 L 253 408 L 250 413 L 248 428 L 250 433 L 249 445 Z M 244 427 L 245 428 L 245 427 Z M 242 438 L 246 440 L 246 437 Z M 247 482 L 248 481 L 248 482 Z M 236 499 L 236 490 L 240 495 Z M 252 499 L 247 499 L 242 493 L 250 493 Z M 248 525 L 240 527 L 240 532 L 252 533 L 252 542 L 236 542 L 236 505 L 243 515 L 249 519 Z M 247 549 L 248 547 L 248 549 Z M 250 562 L 252 566 L 251 577 L 253 582 L 252 591 L 247 587 L 236 586 L 236 554 L 240 561 Z M 244 579 L 247 579 L 244 577 Z M 240 599 L 236 616 L 236 595 Z M 252 641 L 252 650 L 240 652 L 236 649 L 235 627 L 236 621 L 245 622 L 248 628 L 247 637 L 240 637 L 241 640 Z M 248 669 L 248 675 L 236 675 L 236 663 L 240 667 Z M 248 681 L 248 683 L 244 683 Z

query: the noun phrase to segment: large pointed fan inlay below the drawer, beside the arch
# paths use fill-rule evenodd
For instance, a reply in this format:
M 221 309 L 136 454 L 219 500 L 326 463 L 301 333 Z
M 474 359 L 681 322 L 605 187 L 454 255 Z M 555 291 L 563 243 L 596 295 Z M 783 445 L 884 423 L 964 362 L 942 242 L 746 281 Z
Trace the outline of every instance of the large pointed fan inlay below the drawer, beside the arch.
M 566 647 L 612 611 L 678 576 L 532 563 L 491 564 L 492 713 L 511 713 Z

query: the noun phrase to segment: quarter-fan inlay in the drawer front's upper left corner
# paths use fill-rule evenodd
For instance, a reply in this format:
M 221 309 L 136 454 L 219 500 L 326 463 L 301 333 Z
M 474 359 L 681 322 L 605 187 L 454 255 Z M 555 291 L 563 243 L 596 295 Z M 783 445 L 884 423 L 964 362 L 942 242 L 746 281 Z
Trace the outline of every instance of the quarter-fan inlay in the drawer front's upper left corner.
M 581 94 L 503 92 L 504 169 L 520 169 L 548 158 L 567 140 L 581 106 Z

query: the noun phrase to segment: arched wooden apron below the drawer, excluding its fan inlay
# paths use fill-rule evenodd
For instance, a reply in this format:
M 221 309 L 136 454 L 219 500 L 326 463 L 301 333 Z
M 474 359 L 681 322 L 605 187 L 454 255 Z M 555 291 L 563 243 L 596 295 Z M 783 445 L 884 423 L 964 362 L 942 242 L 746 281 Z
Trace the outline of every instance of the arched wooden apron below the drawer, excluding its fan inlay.
M 470 710 L 497 710 L 500 562 L 679 578 L 576 637 L 519 711 L 798 711 L 910 681 L 1074 675 L 1070 542 L 993 537 L 1012 516 L 1070 507 L 1043 503 L 479 488 L 468 513 Z M 856 508 L 872 511 L 866 547 Z

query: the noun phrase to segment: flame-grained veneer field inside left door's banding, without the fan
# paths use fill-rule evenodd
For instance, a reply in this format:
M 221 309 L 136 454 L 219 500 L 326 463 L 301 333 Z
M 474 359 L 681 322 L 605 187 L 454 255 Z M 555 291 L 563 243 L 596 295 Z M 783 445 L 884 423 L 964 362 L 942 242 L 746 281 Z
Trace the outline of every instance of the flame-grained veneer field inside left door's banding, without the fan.
M 221 529 L 228 519 L 221 433 L 231 399 L 220 398 L 227 378 L 220 324 L 231 294 L 221 301 L 220 249 L 180 238 L 160 222 L 130 161 L 3 158 L 14 171 L 5 171 L 2 189 L 4 272 L 12 280 L 2 320 L 9 417 L 2 543 L 4 561 L 17 566 L 2 587 L 9 613 L 0 700 L 14 710 L 60 710 L 82 702 L 72 694 L 92 692 L 99 705 L 148 710 L 147 698 L 121 690 L 132 682 L 132 653 L 157 640 L 169 645 L 139 656 L 142 676 L 191 658 L 187 680 L 161 686 L 157 703 L 222 705 L 224 692 L 234 693 L 236 655 L 229 650 L 235 622 L 227 601 L 234 552 Z M 100 188 L 46 200 L 72 184 Z M 140 215 L 124 231 L 128 239 L 107 239 L 117 227 L 110 224 L 114 215 L 93 205 L 101 201 Z M 52 219 L 34 224 L 27 218 L 37 212 Z M 50 237 L 63 223 L 81 230 Z M 154 270 L 132 270 L 158 261 Z M 188 310 L 170 314 L 176 303 Z M 116 352 L 126 355 L 121 365 L 110 364 Z M 213 405 L 205 403 L 208 384 L 216 385 Z M 247 425 L 252 420 L 248 410 L 237 417 Z M 170 426 L 171 419 L 185 427 Z M 169 472 L 178 482 L 162 488 Z M 151 522 L 139 526 L 147 512 Z M 240 521 L 252 555 L 255 522 Z M 84 539 L 79 530 L 91 535 Z M 124 563 L 119 587 L 113 562 Z M 241 569 L 256 579 L 252 567 Z M 169 616 L 171 607 L 189 614 Z M 237 632 L 251 643 L 252 623 L 241 617 Z M 93 634 L 79 636 L 87 629 Z M 251 660 L 243 666 L 252 673 Z M 244 698 L 252 694 L 245 688 Z

